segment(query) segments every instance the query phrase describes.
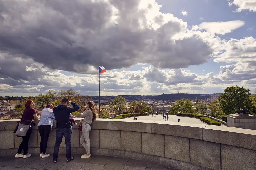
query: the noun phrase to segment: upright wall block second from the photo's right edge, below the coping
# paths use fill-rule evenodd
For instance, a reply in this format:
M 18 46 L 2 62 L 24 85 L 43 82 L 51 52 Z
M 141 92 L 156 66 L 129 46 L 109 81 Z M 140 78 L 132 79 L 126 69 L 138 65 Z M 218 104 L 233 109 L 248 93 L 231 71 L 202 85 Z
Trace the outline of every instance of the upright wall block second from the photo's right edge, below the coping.
M 190 159 L 190 163 L 214 170 L 220 170 L 220 144 L 190 139 Z

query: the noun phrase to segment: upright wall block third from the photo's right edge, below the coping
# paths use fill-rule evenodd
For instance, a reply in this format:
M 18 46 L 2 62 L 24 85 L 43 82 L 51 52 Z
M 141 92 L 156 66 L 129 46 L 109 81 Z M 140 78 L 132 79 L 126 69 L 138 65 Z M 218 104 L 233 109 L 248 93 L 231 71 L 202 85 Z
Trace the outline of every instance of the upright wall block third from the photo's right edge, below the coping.
M 190 162 L 189 138 L 165 135 L 165 157 Z

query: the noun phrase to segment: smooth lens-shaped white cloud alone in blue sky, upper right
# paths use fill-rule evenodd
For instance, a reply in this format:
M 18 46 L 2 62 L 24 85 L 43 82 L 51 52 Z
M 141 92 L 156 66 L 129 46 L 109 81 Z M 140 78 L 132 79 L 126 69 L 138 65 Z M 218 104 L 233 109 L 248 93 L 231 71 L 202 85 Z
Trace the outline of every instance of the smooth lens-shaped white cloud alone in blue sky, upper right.
M 218 22 L 203 22 L 199 25 L 202 29 L 213 33 L 225 35 L 231 33 L 233 30 L 242 27 L 245 24 L 244 21 L 234 20 L 234 21 L 218 21 Z

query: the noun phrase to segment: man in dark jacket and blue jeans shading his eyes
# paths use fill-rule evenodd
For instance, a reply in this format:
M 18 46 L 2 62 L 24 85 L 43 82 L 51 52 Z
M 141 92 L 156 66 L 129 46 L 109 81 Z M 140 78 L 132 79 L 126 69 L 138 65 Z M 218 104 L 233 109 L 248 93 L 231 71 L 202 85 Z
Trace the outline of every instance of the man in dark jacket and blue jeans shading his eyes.
M 71 135 L 72 135 L 72 126 L 70 121 L 70 113 L 77 111 L 80 107 L 72 101 L 69 101 L 68 98 L 62 98 L 61 104 L 53 108 L 53 113 L 56 120 L 56 142 L 53 150 L 53 163 L 57 162 L 59 146 L 62 142 L 62 138 L 65 138 L 66 144 L 66 157 L 67 162 L 74 159 L 71 156 Z M 68 107 L 70 103 L 73 107 Z

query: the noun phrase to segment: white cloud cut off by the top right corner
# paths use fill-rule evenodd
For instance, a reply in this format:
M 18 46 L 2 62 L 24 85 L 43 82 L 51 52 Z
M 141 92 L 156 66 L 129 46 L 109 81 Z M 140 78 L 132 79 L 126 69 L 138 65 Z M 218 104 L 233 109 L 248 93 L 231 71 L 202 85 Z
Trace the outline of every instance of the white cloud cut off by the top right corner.
M 243 10 L 256 12 L 256 0 L 232 0 L 229 2 L 229 6 L 231 5 L 238 7 L 235 12 L 241 12 Z

